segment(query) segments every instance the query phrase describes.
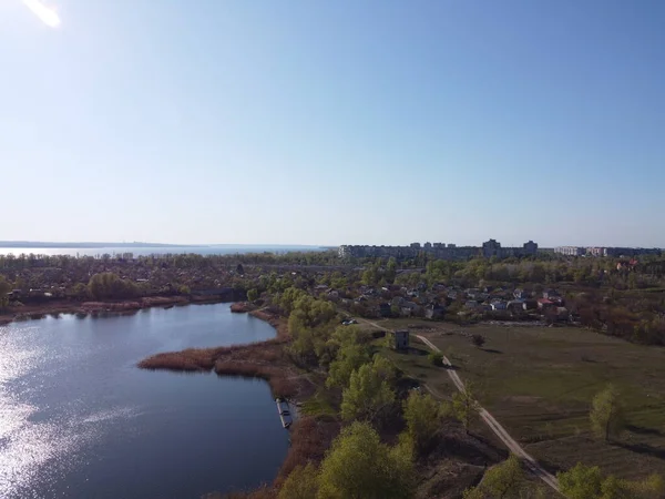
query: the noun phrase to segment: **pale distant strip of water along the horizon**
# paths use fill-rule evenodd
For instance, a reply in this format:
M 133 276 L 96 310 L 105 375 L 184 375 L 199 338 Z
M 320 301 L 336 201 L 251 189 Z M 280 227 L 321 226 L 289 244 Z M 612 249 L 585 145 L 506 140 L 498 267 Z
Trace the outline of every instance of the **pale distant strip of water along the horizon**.
M 146 247 L 0 247 L 0 255 L 71 255 L 71 256 L 99 256 L 132 253 L 134 256 L 165 255 L 196 253 L 200 255 L 235 255 L 244 253 L 288 253 L 288 252 L 316 252 L 318 246 L 269 246 L 269 245 L 212 245 L 212 246 L 146 246 Z

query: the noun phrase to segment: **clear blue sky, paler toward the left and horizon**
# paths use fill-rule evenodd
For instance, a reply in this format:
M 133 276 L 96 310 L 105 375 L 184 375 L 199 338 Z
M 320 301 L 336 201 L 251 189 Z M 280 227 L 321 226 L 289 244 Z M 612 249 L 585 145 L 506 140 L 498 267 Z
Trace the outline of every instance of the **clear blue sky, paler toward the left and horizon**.
M 665 246 L 665 2 L 0 3 L 0 240 Z

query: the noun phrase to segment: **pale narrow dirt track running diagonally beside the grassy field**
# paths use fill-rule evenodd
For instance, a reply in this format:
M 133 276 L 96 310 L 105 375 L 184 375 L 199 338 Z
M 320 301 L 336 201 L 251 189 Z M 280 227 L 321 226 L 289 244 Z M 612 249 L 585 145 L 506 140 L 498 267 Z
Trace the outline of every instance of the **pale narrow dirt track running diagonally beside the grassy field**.
M 386 327 L 379 326 L 377 323 L 372 323 L 367 319 L 359 318 L 358 320 L 369 324 L 370 326 L 378 327 L 379 329 L 390 330 L 390 329 L 387 329 Z M 424 343 L 428 347 L 430 347 L 432 350 L 439 352 L 439 353 L 441 352 L 441 349 L 439 347 L 437 347 L 433 343 L 431 343 L 424 336 L 421 336 L 421 335 L 415 335 L 415 336 L 417 338 L 419 338 L 422 343 Z M 452 364 L 446 356 L 443 356 L 443 363 L 447 367 L 452 367 Z M 460 376 L 457 374 L 457 371 L 454 371 L 453 369 L 447 369 L 447 371 L 448 371 L 448 376 L 450 376 L 450 379 L 452 379 L 452 383 L 454 384 L 457 389 L 460 391 L 464 391 L 464 383 L 462 381 Z M 434 396 L 438 395 L 436 393 L 436 390 L 431 389 L 427 385 L 426 385 L 426 388 L 430 393 L 432 393 L 432 395 L 434 395 Z M 483 407 L 481 407 L 480 405 L 478 406 L 478 409 L 479 409 L 479 414 L 480 414 L 480 417 L 482 418 L 482 420 L 490 427 L 490 429 L 492 431 L 494 431 L 497 437 L 499 437 L 501 439 L 501 441 L 505 445 L 505 447 L 508 447 L 512 454 L 520 457 L 533 475 L 535 475 L 538 478 L 543 480 L 548 486 L 550 486 L 552 489 L 554 489 L 559 492 L 560 491 L 559 490 L 559 481 L 556 480 L 556 477 L 554 477 L 552 473 L 548 472 L 542 466 L 540 466 L 538 464 L 538 461 L 532 456 L 530 456 L 514 438 L 512 438 L 509 435 L 509 432 L 505 430 L 505 428 L 503 428 L 499 424 L 499 421 L 497 421 L 497 419 L 494 419 L 494 416 L 492 416 L 490 413 L 488 413 L 488 410 L 484 409 Z

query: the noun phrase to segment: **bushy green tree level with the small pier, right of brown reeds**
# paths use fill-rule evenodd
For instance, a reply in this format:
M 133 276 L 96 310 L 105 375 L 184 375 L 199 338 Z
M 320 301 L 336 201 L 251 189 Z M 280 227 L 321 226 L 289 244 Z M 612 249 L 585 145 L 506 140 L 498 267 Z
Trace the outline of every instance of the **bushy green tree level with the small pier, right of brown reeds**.
M 346 421 L 372 421 L 395 401 L 395 391 L 386 378 L 387 360 L 375 356 L 351 373 L 348 388 L 341 394 L 341 418 Z

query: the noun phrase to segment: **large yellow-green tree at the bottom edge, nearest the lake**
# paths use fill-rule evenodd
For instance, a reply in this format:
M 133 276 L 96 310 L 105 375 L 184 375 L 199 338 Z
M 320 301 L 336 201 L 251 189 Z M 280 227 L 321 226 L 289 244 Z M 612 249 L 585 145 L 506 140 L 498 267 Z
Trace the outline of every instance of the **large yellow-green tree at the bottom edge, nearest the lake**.
M 408 499 L 413 464 L 402 447 L 381 444 L 367 422 L 341 430 L 321 462 L 318 499 Z

